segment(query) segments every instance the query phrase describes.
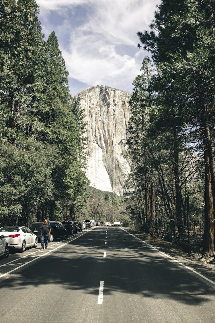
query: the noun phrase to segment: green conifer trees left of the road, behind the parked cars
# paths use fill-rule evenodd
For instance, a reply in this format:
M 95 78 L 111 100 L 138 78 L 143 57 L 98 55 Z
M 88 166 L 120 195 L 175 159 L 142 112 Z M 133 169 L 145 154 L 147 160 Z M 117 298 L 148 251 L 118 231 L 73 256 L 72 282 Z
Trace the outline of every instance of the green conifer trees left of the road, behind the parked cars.
M 82 111 L 34 0 L 1 1 L 0 48 L 0 224 L 72 217 L 88 186 Z

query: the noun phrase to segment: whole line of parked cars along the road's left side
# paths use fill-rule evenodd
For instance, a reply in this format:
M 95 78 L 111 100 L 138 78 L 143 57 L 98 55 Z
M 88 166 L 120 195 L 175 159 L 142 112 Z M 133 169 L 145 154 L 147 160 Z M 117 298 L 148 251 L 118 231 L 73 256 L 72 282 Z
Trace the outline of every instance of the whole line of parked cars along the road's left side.
M 76 234 L 84 229 L 94 226 L 94 220 L 82 221 L 48 221 L 52 231 L 48 241 L 52 242 L 56 238 L 66 240 L 68 234 Z M 37 247 L 38 240 L 41 239 L 41 226 L 44 222 L 34 222 L 27 228 L 26 226 L 4 226 L 0 228 L 0 257 L 8 257 L 10 249 L 19 249 L 24 252 L 26 247 Z

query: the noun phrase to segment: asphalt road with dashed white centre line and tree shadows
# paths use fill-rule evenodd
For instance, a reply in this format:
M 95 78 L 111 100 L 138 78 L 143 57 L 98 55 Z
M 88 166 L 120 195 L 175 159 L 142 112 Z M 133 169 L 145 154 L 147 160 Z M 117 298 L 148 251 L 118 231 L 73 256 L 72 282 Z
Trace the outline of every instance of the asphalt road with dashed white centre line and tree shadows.
M 215 282 L 119 227 L 0 260 L 0 322 L 215 322 Z

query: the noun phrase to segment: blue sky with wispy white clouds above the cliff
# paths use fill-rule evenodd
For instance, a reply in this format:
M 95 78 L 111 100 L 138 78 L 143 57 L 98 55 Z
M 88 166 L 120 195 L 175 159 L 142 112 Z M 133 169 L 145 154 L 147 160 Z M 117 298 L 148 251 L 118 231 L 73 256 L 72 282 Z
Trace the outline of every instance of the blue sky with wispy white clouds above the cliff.
M 137 32 L 149 30 L 159 0 L 36 0 L 45 39 L 54 30 L 70 92 L 95 85 L 132 92 L 149 53 Z

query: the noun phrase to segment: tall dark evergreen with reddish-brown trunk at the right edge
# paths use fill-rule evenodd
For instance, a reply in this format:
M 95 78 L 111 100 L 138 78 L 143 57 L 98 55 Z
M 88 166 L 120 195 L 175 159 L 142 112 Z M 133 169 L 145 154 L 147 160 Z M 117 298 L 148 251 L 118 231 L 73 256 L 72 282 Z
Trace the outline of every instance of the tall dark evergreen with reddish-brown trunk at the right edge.
M 203 252 L 209 255 L 215 254 L 214 26 L 214 0 L 163 0 L 151 31 L 138 33 L 161 71 L 161 82 L 155 82 L 160 97 L 171 92 L 171 105 L 180 101 L 184 122 L 200 130 L 205 164 Z

